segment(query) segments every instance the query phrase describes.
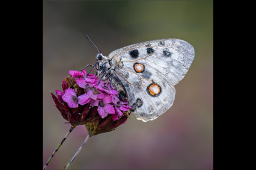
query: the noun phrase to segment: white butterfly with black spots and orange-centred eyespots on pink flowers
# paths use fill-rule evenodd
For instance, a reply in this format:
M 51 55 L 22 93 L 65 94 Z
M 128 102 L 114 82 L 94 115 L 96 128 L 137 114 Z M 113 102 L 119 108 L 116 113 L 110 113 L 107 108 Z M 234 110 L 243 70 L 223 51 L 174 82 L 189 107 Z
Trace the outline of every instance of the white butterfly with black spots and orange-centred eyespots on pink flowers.
M 121 101 L 127 99 L 138 120 L 147 122 L 174 104 L 174 86 L 184 78 L 194 56 L 187 41 L 159 39 L 125 46 L 109 56 L 100 51 L 90 66 L 96 68 L 100 79 L 110 80 Z

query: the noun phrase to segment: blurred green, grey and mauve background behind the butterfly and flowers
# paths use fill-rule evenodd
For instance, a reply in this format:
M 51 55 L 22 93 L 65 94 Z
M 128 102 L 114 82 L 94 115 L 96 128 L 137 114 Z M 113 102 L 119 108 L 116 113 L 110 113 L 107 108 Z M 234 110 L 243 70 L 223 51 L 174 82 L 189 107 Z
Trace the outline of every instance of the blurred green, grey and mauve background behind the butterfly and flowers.
M 43 166 L 71 128 L 53 103 L 69 70 L 138 42 L 177 38 L 195 59 L 174 105 L 154 121 L 89 139 L 69 169 L 213 169 L 213 1 L 43 1 Z M 88 71 L 88 70 L 87 70 Z M 94 72 L 95 74 L 95 72 Z M 63 169 L 86 138 L 77 126 L 47 169 Z

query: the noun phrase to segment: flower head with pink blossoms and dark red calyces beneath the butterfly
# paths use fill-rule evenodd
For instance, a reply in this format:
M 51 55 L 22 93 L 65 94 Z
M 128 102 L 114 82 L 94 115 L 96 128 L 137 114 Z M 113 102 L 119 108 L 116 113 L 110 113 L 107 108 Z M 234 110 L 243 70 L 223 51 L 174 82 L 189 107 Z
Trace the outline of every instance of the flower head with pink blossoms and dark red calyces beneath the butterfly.
M 127 111 L 131 107 L 127 100 L 119 100 L 118 92 L 110 87 L 109 82 L 99 82 L 97 76 L 86 74 L 85 70 L 82 70 L 82 73 L 71 70 L 69 74 L 63 80 L 63 91 L 56 90 L 57 97 L 53 94 L 52 97 L 63 118 L 72 126 L 91 122 L 95 124 L 105 121 L 104 118 L 109 121 L 109 117 L 118 121 L 125 116 L 122 118 L 122 124 L 126 122 L 129 117 Z

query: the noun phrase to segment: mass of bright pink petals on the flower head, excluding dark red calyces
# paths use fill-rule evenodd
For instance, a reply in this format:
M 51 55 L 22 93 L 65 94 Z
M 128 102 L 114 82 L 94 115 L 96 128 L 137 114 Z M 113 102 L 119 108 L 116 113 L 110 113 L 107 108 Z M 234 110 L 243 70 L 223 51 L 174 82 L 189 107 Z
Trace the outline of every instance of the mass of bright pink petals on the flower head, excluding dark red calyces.
M 89 103 L 90 107 L 98 107 L 97 111 L 100 114 L 101 118 L 105 118 L 108 114 L 112 114 L 113 120 L 118 120 L 123 116 L 123 112 L 128 111 L 129 107 L 127 100 L 120 101 L 118 98 L 118 92 L 110 87 L 109 82 L 104 83 L 99 80 L 97 76 L 93 74 L 86 75 L 86 71 L 73 71 L 70 70 L 69 74 L 76 79 L 77 85 L 84 89 L 86 95 L 81 95 L 81 98 L 86 97 L 84 103 Z M 76 97 L 75 90 L 68 90 L 67 93 L 63 95 L 61 91 L 57 92 L 58 97 L 63 96 L 63 100 L 68 103 L 72 108 L 78 107 L 78 104 L 81 100 L 79 97 Z M 83 104 L 83 103 L 81 103 Z

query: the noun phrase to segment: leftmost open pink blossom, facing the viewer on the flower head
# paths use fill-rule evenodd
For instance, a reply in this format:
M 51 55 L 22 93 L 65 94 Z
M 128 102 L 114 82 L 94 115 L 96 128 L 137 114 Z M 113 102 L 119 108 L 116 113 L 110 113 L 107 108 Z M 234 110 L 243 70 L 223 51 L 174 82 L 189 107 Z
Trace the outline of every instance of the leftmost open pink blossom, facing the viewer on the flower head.
M 65 94 L 61 96 L 62 99 L 68 103 L 69 108 L 77 108 L 80 105 L 85 105 L 89 103 L 89 95 L 81 95 L 79 97 L 76 96 L 76 92 L 73 88 L 67 88 L 65 90 Z

